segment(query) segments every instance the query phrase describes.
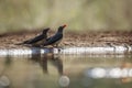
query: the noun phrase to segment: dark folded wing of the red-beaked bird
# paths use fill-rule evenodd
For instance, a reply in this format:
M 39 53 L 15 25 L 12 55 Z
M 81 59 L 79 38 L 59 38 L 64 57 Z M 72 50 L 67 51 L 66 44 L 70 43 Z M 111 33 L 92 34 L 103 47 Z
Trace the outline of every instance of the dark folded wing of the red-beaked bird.
M 59 41 L 62 37 L 63 37 L 63 34 L 56 34 L 52 37 L 48 37 L 47 42 L 44 45 L 53 44 L 53 43 Z

